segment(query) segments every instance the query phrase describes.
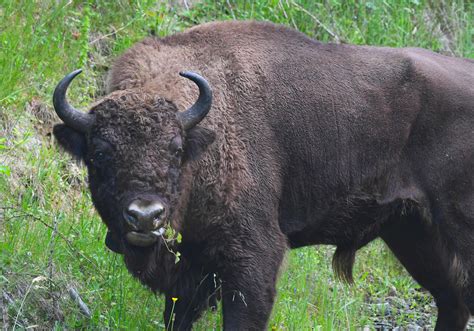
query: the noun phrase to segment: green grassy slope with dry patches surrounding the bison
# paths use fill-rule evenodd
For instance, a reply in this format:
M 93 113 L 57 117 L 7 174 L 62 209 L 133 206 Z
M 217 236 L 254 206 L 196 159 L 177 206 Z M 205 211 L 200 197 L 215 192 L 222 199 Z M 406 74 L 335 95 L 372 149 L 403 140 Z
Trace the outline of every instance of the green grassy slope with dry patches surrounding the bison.
M 327 42 L 418 46 L 474 58 L 469 1 L 9 1 L 0 0 L 0 327 L 156 329 L 163 300 L 104 246 L 85 171 L 51 137 L 55 84 L 87 109 L 113 59 L 149 34 L 227 19 L 269 20 Z M 192 2 L 192 4 L 190 4 Z M 436 308 L 383 243 L 359 251 L 355 284 L 331 270 L 333 248 L 288 254 L 270 327 L 348 330 L 432 327 Z M 87 317 L 70 293 L 90 310 Z M 207 313 L 195 329 L 221 328 Z

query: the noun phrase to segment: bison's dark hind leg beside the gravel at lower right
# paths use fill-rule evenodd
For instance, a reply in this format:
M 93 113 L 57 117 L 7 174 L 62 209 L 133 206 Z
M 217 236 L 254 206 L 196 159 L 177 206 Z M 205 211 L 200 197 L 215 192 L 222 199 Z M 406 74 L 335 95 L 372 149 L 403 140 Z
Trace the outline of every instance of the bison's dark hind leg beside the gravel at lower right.
M 459 277 L 454 277 L 460 272 L 459 263 L 437 225 L 427 223 L 419 213 L 407 213 L 385 224 L 380 235 L 413 278 L 433 295 L 438 306 L 435 330 L 464 330 L 469 310 Z

